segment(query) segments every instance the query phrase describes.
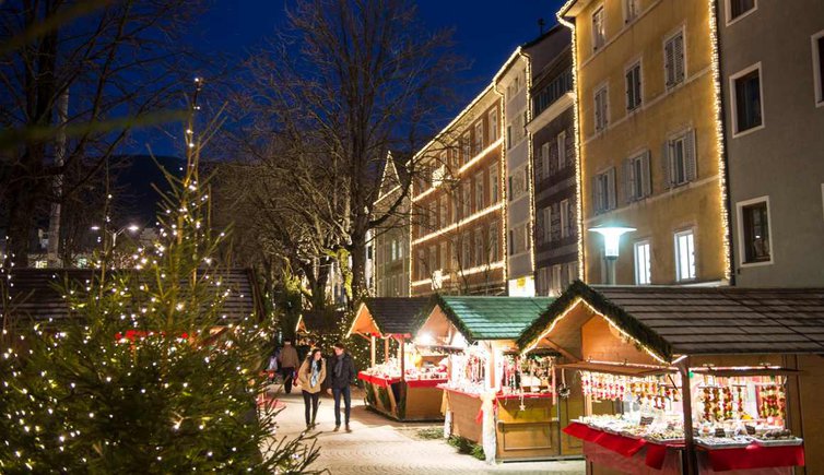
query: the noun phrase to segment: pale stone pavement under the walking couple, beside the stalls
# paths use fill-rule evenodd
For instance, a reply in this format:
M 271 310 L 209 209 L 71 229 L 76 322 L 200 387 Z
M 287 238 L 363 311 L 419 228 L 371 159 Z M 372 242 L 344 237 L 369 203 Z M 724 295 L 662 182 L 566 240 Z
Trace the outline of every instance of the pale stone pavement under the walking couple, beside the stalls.
M 278 436 L 294 437 L 305 429 L 303 396 L 298 390 L 280 394 L 285 408 L 278 415 Z M 318 427 L 313 435 L 320 448 L 314 467 L 332 475 L 348 474 L 582 474 L 582 461 L 521 462 L 487 465 L 462 455 L 443 440 L 421 440 L 417 430 L 432 424 L 402 424 L 365 408 L 362 395 L 352 394 L 352 432 L 334 428 L 334 401 L 321 397 Z M 341 414 L 341 416 L 343 416 Z M 341 428 L 342 429 L 342 428 Z

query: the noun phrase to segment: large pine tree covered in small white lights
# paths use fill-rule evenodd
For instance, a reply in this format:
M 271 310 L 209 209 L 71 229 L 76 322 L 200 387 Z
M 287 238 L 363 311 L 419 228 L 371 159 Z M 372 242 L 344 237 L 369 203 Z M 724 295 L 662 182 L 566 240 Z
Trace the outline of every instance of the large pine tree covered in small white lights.
M 223 311 L 226 234 L 210 226 L 203 143 L 187 139 L 136 269 L 103 253 L 93 280 L 63 283 L 69 322 L 3 333 L 0 472 L 309 472 L 314 444 L 278 437 L 276 413 L 257 407 L 271 325 Z

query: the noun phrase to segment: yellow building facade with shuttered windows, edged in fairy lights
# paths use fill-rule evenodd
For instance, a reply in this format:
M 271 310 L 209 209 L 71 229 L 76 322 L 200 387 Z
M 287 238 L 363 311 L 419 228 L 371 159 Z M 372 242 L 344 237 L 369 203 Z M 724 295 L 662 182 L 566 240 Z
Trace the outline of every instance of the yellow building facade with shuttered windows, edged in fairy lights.
M 604 240 L 625 226 L 615 284 L 717 284 L 729 251 L 713 2 L 570 0 L 584 278 L 608 283 Z

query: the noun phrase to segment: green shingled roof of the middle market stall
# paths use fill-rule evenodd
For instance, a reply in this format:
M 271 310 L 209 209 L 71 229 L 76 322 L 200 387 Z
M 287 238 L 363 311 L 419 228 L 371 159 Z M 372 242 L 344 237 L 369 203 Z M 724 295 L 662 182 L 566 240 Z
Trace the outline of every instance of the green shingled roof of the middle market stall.
M 554 299 L 435 295 L 434 305 L 468 341 L 516 340 Z

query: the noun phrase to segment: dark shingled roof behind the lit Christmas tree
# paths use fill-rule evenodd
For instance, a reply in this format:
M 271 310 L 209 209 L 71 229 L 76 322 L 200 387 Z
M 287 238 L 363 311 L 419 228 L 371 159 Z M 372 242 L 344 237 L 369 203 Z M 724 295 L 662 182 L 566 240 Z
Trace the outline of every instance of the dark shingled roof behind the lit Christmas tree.
M 59 322 L 71 317 L 63 289 L 84 289 L 97 277 L 94 269 L 15 269 L 11 274 L 12 314 L 34 321 Z M 248 269 L 221 272 L 221 287 L 228 288 L 223 313 L 227 321 L 239 321 L 250 314 L 262 316 L 261 302 L 256 297 L 256 284 Z

